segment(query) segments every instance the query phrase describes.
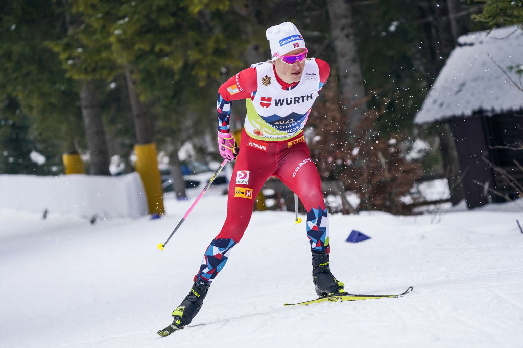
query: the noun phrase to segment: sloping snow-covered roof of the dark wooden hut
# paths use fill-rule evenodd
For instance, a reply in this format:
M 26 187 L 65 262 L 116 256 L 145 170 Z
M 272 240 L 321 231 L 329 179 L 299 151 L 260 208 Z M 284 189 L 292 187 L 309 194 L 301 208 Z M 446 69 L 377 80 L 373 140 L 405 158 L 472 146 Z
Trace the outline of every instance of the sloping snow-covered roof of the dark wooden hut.
M 488 35 L 487 35 L 488 34 Z M 492 58 L 491 58 L 492 57 Z M 520 77 L 508 69 L 523 65 L 523 30 L 516 26 L 461 35 L 414 119 L 433 122 L 475 111 L 509 111 L 523 107 Z

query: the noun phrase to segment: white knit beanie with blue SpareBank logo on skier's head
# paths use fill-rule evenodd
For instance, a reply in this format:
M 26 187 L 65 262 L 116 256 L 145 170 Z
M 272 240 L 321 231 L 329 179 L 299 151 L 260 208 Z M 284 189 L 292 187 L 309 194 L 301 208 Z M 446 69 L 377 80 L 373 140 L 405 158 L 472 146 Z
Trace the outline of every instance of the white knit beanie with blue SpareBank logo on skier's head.
M 266 35 L 272 59 L 277 58 L 275 53 L 284 55 L 290 51 L 305 48 L 305 40 L 298 28 L 291 22 L 283 22 L 279 26 L 268 28 Z

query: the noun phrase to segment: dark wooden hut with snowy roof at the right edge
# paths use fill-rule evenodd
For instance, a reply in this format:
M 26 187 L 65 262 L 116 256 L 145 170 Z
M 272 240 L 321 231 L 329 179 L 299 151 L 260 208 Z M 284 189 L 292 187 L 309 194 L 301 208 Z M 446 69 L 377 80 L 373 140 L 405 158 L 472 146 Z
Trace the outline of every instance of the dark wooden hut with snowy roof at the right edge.
M 448 178 L 459 182 L 453 188 L 461 186 L 451 193 L 454 201 L 465 198 L 469 208 L 518 196 L 499 170 L 523 184 L 523 149 L 513 149 L 523 148 L 521 70 L 523 30 L 462 35 L 416 114 L 417 124 L 440 123 Z

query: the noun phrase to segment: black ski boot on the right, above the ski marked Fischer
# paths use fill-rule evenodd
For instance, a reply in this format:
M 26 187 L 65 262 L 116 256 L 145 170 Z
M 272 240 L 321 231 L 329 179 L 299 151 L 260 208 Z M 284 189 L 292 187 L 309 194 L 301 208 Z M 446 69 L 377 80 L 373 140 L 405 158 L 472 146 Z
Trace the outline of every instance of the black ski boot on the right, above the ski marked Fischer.
M 345 292 L 343 283 L 334 278 L 328 265 L 327 250 L 312 250 L 312 281 L 314 282 L 314 290 L 320 297 Z

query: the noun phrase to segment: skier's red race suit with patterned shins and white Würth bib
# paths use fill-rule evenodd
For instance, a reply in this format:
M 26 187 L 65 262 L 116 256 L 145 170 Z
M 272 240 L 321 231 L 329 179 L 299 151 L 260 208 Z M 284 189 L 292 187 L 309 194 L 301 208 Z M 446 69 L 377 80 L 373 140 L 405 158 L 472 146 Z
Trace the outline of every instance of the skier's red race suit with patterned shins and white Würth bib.
M 227 216 L 204 254 L 195 281 L 212 282 L 247 228 L 259 190 L 274 176 L 298 195 L 307 210 L 311 249 L 328 251 L 328 219 L 320 176 L 303 129 L 329 76 L 329 65 L 307 58 L 298 82 L 286 83 L 270 62 L 253 64 L 218 90 L 218 131 L 229 133 L 231 104 L 245 99 L 247 115 L 240 153 L 229 186 Z M 274 243 L 266 241 L 264 244 Z M 260 246 L 261 247 L 261 246 Z

